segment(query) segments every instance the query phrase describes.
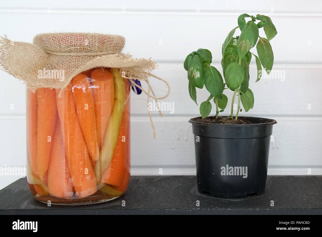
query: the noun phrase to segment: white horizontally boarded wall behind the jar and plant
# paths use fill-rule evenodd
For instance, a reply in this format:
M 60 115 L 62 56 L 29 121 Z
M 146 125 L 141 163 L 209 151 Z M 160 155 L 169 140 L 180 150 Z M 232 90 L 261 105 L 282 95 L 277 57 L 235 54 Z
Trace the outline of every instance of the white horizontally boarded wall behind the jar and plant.
M 311 168 L 312 174 L 322 174 L 320 1 L 2 1 L 0 34 L 29 43 L 34 35 L 47 32 L 125 36 L 125 53 L 152 57 L 159 64 L 155 74 L 171 85 L 165 101 L 175 104 L 174 114 L 164 112 L 160 118 L 153 112 L 157 132 L 157 139 L 153 139 L 146 96 L 132 95 L 132 174 L 158 175 L 162 168 L 164 175 L 186 175 L 195 174 L 188 120 L 198 116 L 199 109 L 188 94 L 183 60 L 191 51 L 207 48 L 213 53 L 213 65 L 221 70 L 221 45 L 242 13 L 272 18 L 278 30 L 271 40 L 273 69 L 285 70 L 285 81 L 261 79 L 255 84 L 256 66 L 251 62 L 250 88 L 255 105 L 247 115 L 278 121 L 268 173 L 305 175 Z M 264 35 L 262 30 L 260 34 Z M 3 71 L 0 77 L 0 166 L 25 165 L 25 88 Z M 163 84 L 154 79 L 151 84 L 156 94 L 166 93 Z M 208 93 L 198 90 L 197 96 L 200 103 Z M 0 176 L 0 188 L 17 178 Z

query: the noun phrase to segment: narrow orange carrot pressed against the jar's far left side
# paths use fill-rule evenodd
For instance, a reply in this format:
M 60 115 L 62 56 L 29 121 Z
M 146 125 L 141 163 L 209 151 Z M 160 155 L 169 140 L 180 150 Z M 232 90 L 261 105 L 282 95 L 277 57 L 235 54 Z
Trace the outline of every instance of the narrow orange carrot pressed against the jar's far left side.
M 34 176 L 39 177 L 37 170 L 37 91 L 27 91 L 27 150 L 30 168 Z

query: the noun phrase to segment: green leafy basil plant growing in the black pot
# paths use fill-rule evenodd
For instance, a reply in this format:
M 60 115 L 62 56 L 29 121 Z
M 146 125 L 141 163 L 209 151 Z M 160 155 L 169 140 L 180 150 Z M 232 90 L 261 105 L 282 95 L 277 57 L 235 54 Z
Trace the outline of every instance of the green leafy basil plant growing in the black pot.
M 246 18 L 250 19 L 247 23 Z M 261 27 L 264 29 L 266 38 L 259 36 L 259 28 Z M 241 31 L 240 36 L 233 37 L 238 28 Z M 202 118 L 210 114 L 212 108 L 211 100 L 216 105 L 216 118 L 219 112 L 224 111 L 228 102 L 227 96 L 223 94 L 225 89 L 234 91 L 231 104 L 231 118 L 233 118 L 233 104 L 236 95 L 238 95 L 236 120 L 240 111 L 240 102 L 242 102 L 246 112 L 253 108 L 254 95 L 251 89 L 248 88 L 250 79 L 249 64 L 252 56 L 254 56 L 257 66 L 256 82 L 261 78 L 262 66 L 266 73 L 270 74 L 274 61 L 270 40 L 276 34 L 276 28 L 270 17 L 265 15 L 256 15 L 256 17 L 248 14 L 240 15 L 238 17 L 238 26 L 229 32 L 223 42 L 221 64 L 224 80 L 219 71 L 210 65 L 212 54 L 208 49 L 198 49 L 188 54 L 184 62 L 184 68 L 188 72 L 191 99 L 197 104 L 196 88 L 201 89 L 205 86 L 210 93 L 208 99 L 200 104 Z M 258 56 L 250 52 L 250 49 L 255 45 Z

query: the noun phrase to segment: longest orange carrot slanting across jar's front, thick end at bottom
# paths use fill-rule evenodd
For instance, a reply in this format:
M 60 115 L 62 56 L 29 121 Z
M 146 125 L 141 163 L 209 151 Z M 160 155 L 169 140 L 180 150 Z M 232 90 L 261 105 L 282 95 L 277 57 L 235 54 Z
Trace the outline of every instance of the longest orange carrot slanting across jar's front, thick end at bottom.
M 87 197 L 97 191 L 96 177 L 78 122 L 71 84 L 62 89 L 61 95 L 60 92 L 61 90 L 56 90 L 57 109 L 71 179 L 76 194 Z

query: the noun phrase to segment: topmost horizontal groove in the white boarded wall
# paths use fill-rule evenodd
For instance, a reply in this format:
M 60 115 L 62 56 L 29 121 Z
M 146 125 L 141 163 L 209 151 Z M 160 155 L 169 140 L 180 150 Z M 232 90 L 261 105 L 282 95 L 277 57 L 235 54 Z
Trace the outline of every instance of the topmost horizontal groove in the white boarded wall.
M 49 6 L 50 7 L 50 6 Z M 212 10 L 212 9 L 134 9 L 134 8 L 37 8 L 37 7 L 12 7 L 0 8 L 0 13 L 32 13 L 32 14 L 127 14 L 127 15 L 216 15 L 216 16 L 239 16 L 243 11 L 228 11 L 228 10 Z M 303 12 L 283 12 L 251 10 L 252 12 L 261 12 L 262 14 L 285 16 L 285 17 L 322 17 L 322 12 L 319 11 L 303 11 Z

